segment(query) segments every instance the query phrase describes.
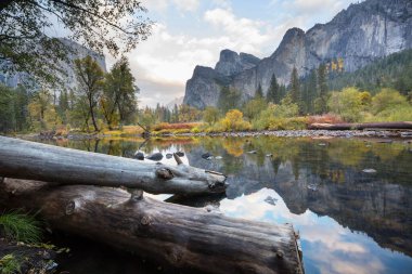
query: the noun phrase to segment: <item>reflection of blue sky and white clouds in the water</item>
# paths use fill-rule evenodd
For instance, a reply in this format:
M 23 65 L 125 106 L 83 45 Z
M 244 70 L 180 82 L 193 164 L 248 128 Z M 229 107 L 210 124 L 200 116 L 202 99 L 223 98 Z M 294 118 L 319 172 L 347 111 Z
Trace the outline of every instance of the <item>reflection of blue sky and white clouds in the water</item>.
M 268 196 L 278 199 L 275 206 L 265 203 Z M 235 218 L 293 223 L 295 230 L 300 233 L 304 263 L 310 265 L 309 272 L 388 273 L 396 272 L 396 269 L 386 269 L 384 261 L 404 262 L 407 259 L 402 255 L 379 248 L 372 238 L 343 227 L 330 217 L 319 217 L 310 210 L 302 214 L 292 213 L 282 197 L 273 190 L 262 188 L 247 196 L 223 199 L 220 210 Z

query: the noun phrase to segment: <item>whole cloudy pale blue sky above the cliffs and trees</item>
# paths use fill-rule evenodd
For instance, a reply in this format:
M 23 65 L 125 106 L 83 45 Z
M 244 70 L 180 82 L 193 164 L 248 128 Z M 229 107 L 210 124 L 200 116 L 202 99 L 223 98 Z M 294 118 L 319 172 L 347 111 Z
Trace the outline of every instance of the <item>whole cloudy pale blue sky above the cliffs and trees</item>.
M 127 54 L 140 106 L 184 95 L 196 65 L 215 67 L 223 49 L 271 55 L 288 28 L 327 23 L 359 0 L 143 0 L 153 34 Z M 113 57 L 106 56 L 108 67 Z

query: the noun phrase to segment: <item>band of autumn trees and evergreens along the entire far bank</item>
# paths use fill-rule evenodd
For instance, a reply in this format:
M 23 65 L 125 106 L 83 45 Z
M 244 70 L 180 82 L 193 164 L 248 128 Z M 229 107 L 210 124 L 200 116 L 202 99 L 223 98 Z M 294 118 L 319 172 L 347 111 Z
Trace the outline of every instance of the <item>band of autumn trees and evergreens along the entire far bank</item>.
M 91 57 L 74 63 L 78 87 L 54 92 L 30 91 L 22 86 L 0 86 L 0 131 L 28 132 L 64 128 L 80 131 L 118 129 L 139 123 L 151 130 L 158 123 L 203 121 L 192 130 L 300 129 L 308 117 L 332 114 L 350 122 L 412 120 L 412 50 L 391 54 L 355 71 L 346 73 L 342 58 L 321 64 L 306 77 L 296 68 L 288 86 L 271 78 L 255 96 L 221 87 L 218 106 L 196 109 L 175 105 L 169 109 L 138 108 L 136 86 L 128 60 L 121 57 L 104 73 Z M 263 95 L 266 94 L 266 95 Z M 201 125 L 201 126 L 199 126 Z

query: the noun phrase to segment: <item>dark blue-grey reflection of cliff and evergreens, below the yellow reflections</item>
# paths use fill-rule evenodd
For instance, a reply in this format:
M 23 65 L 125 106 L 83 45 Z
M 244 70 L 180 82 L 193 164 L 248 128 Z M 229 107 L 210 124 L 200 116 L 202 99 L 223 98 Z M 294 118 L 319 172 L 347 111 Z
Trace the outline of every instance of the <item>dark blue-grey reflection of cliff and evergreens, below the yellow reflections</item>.
M 343 226 L 366 233 L 383 247 L 411 256 L 412 186 L 405 183 L 411 179 L 411 172 L 402 166 L 410 162 L 411 155 L 395 149 L 394 157 L 382 159 L 371 151 L 355 151 L 352 145 L 345 149 L 345 143 L 338 142 L 327 144 L 325 148 L 304 142 L 295 154 L 282 159 L 247 153 L 231 157 L 219 146 L 209 149 L 194 147 L 186 155 L 192 166 L 230 175 L 228 198 L 262 187 L 272 188 L 293 213 L 300 214 L 310 209 L 320 216 L 329 216 Z M 364 146 L 363 142 L 360 145 Z M 339 157 L 338 148 L 342 153 L 357 155 L 340 154 Z M 210 151 L 222 155 L 223 159 L 202 159 L 201 155 Z M 267 152 L 268 148 L 260 147 L 260 151 Z M 377 151 L 382 152 L 382 147 Z M 398 165 L 397 159 L 401 160 Z M 371 166 L 378 173 L 363 173 L 363 166 Z

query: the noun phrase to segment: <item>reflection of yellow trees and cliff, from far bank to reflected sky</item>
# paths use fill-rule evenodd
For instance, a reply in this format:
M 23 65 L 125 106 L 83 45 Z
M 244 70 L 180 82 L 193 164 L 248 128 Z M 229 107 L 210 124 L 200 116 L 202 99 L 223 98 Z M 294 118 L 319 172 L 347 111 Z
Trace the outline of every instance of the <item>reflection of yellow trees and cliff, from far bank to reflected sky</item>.
M 412 153 L 402 143 L 371 146 L 361 140 L 286 138 L 152 139 L 143 147 L 183 149 L 190 165 L 231 174 L 229 198 L 262 187 L 275 190 L 289 210 L 308 208 L 342 225 L 363 231 L 381 246 L 412 255 Z M 53 141 L 49 141 L 53 142 Z M 143 140 L 60 142 L 74 148 L 131 157 Z M 319 143 L 325 143 L 320 146 Z M 241 154 L 256 149 L 257 154 Z M 221 160 L 202 159 L 209 152 Z M 273 157 L 266 157 L 273 154 Z M 362 170 L 373 168 L 376 174 Z M 317 191 L 308 188 L 318 186 Z

